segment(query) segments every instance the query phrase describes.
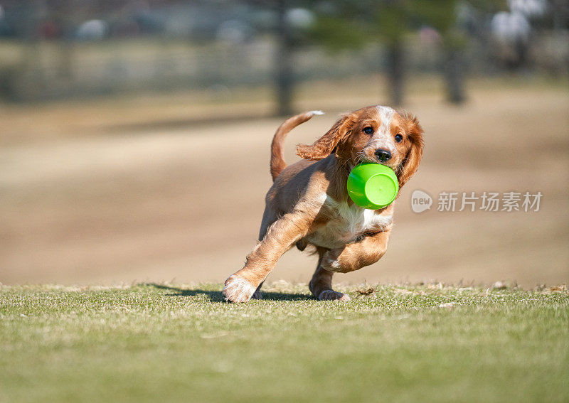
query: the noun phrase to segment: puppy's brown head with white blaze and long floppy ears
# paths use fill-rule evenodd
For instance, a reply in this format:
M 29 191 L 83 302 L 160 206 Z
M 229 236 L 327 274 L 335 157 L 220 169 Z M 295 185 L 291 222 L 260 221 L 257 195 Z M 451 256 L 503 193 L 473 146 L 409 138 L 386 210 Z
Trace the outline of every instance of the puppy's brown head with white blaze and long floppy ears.
M 381 163 L 395 171 L 403 186 L 419 168 L 422 128 L 416 117 L 390 107 L 364 107 L 344 114 L 314 144 L 300 144 L 297 154 L 312 161 L 335 154 L 350 168 Z

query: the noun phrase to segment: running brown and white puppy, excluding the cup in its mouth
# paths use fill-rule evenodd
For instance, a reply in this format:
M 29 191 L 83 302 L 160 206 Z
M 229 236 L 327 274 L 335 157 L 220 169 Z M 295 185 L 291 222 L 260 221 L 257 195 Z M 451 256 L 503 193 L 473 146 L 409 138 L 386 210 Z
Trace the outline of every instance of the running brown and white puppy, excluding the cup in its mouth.
M 260 288 L 277 260 L 296 245 L 319 255 L 309 289 L 318 299 L 347 300 L 332 289 L 334 272 L 347 273 L 377 262 L 387 249 L 393 204 L 381 210 L 355 205 L 346 180 L 358 163 L 382 163 L 395 171 L 399 187 L 415 174 L 422 156 L 422 128 L 416 117 L 372 106 L 345 114 L 312 145 L 297 146 L 301 161 L 287 166 L 282 142 L 287 133 L 319 111 L 297 114 L 281 125 L 271 146 L 274 184 L 266 196 L 259 242 L 245 267 L 227 280 L 227 301 L 261 298 Z

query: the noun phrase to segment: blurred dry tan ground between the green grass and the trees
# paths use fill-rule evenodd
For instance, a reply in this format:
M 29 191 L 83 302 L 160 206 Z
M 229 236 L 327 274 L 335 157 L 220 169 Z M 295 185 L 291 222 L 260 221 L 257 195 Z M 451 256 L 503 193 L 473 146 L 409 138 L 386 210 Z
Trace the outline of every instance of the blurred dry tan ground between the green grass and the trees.
M 292 132 L 287 161 L 294 144 L 313 141 L 337 112 L 377 103 L 373 84 L 302 89 L 298 109 L 329 113 Z M 458 108 L 438 92 L 412 94 L 408 109 L 427 146 L 398 200 L 388 253 L 336 281 L 568 281 L 566 90 L 482 83 Z M 270 111 L 265 99 L 0 105 L 0 282 L 223 281 L 255 243 L 281 119 L 218 116 L 259 116 Z M 543 200 L 538 213 L 415 214 L 415 188 L 435 203 L 442 190 L 541 190 Z M 271 279 L 307 281 L 314 265 L 292 250 Z

